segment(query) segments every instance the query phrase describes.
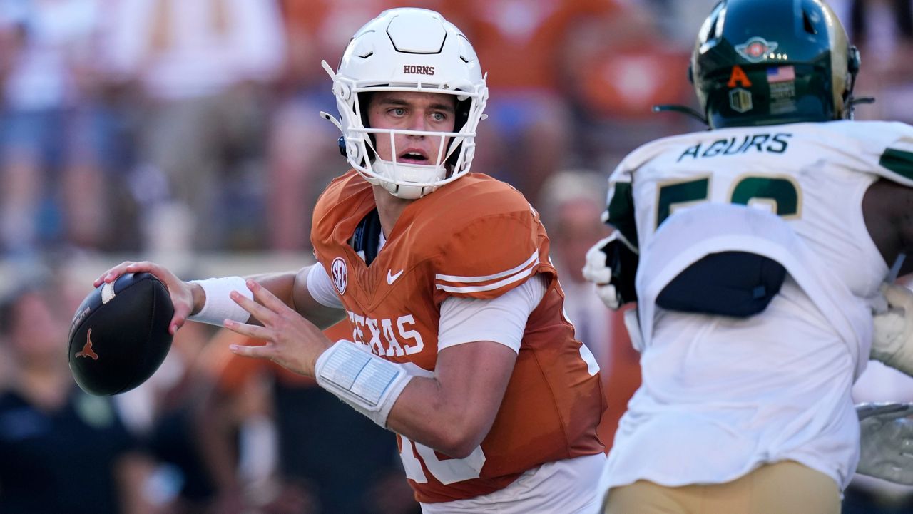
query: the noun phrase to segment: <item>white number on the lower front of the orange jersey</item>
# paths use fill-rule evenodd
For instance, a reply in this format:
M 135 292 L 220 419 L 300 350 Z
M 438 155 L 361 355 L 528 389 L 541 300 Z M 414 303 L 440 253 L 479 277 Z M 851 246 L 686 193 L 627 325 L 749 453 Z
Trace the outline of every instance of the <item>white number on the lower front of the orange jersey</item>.
M 466 458 L 440 459 L 437 458 L 435 450 L 432 448 L 410 441 L 404 435 L 400 435 L 400 438 L 402 439 L 400 457 L 403 458 L 405 477 L 415 480 L 419 484 L 428 483 L 428 477 L 425 477 L 425 470 L 422 469 L 423 461 L 431 475 L 445 486 L 478 478 L 482 467 L 485 466 L 485 453 L 482 452 L 482 446 L 476 446 L 476 449 Z M 416 454 L 418 455 L 416 456 Z

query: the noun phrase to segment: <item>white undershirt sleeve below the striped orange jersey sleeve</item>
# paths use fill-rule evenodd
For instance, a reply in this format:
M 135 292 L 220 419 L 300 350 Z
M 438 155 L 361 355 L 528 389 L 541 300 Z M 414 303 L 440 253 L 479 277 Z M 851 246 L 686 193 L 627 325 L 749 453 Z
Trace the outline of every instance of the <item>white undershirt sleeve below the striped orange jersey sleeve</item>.
M 545 296 L 545 286 L 545 278 L 536 275 L 496 299 L 444 300 L 437 329 L 437 350 L 465 342 L 495 341 L 519 353 L 526 320 Z

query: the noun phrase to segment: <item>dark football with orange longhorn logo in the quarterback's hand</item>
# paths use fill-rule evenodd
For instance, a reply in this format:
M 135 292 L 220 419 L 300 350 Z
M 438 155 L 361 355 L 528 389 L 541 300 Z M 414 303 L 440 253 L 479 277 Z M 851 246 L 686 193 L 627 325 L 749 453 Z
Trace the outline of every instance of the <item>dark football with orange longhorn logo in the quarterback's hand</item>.
M 67 358 L 83 391 L 130 391 L 162 364 L 173 336 L 168 288 L 149 273 L 125 274 L 95 288 L 70 325 Z

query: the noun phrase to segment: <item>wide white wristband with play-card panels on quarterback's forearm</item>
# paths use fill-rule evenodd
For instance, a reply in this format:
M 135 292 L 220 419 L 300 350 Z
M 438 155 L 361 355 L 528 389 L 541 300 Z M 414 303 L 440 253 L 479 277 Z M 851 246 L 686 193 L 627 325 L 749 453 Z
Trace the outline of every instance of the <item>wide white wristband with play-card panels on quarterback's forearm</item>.
M 385 361 L 367 346 L 345 340 L 320 354 L 314 374 L 320 387 L 383 428 L 396 399 L 412 380 L 402 364 Z

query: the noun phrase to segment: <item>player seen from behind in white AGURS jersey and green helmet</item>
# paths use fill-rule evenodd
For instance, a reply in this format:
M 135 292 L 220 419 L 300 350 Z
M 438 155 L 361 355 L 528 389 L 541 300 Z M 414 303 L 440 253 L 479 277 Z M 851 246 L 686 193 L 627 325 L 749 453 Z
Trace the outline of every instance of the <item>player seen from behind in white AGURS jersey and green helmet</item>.
M 616 232 L 585 273 L 610 307 L 637 301 L 643 385 L 605 512 L 840 511 L 873 332 L 877 357 L 913 369 L 904 323 L 873 330 L 879 288 L 913 270 L 913 128 L 850 120 L 858 69 L 824 2 L 723 0 L 689 68 L 711 130 L 648 143 L 612 173 Z M 887 441 L 908 412 L 860 416 Z M 866 469 L 891 467 L 882 457 Z

